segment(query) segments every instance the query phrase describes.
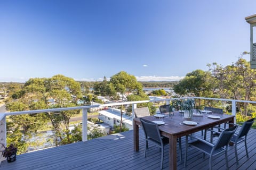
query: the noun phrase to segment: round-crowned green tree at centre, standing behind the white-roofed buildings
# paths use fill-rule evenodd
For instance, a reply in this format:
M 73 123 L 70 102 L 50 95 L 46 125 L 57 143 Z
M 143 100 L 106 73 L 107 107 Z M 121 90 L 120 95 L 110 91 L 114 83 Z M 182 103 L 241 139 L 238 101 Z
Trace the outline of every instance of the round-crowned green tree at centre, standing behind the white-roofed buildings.
M 110 89 L 110 90 L 109 90 Z M 108 87 L 109 95 L 117 96 L 121 98 L 122 101 L 126 100 L 126 96 L 129 93 L 139 95 L 142 93 L 142 85 L 137 82 L 134 75 L 130 75 L 124 71 L 121 71 L 110 78 L 109 87 Z M 123 105 L 120 108 L 121 112 L 121 120 L 120 120 L 120 131 L 122 130 L 122 122 L 123 122 Z

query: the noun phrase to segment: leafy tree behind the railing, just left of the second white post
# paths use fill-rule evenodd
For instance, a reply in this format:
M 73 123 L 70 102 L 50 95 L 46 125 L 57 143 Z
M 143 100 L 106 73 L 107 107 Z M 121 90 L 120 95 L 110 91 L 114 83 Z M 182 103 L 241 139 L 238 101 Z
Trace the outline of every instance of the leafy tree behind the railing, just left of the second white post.
M 49 79 L 46 89 L 49 92 L 49 98 L 54 100 L 54 104 L 48 104 L 51 108 L 75 107 L 77 106 L 77 99 L 82 98 L 80 84 L 74 79 L 63 75 L 55 75 Z M 72 142 L 70 139 L 69 119 L 79 112 L 79 110 L 72 110 L 47 113 L 55 131 L 56 146 Z M 64 127 L 63 130 L 61 129 L 62 126 Z M 60 142 L 58 142 L 58 139 L 60 139 Z

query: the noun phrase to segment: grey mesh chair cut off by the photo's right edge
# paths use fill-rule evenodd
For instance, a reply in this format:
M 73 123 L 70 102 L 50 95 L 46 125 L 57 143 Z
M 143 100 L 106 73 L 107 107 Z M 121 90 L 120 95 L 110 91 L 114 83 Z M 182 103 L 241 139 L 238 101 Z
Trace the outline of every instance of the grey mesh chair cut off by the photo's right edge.
M 249 157 L 248 150 L 247 150 L 247 134 L 249 130 L 251 129 L 252 124 L 254 123 L 255 118 L 251 118 L 250 120 L 247 120 L 243 123 L 241 126 L 238 134 L 234 134 L 233 138 L 231 138 L 231 142 L 235 143 L 235 155 L 236 155 L 236 164 L 238 165 L 238 155 L 237 155 L 237 144 L 244 141 L 245 151 L 246 151 L 246 157 Z

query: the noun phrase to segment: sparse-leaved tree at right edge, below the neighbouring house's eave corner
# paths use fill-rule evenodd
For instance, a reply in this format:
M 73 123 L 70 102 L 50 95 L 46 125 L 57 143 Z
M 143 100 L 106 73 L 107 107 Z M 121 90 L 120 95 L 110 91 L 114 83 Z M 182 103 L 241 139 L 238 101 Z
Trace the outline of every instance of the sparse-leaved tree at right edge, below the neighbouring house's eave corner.
M 213 76 L 218 80 L 219 94 L 222 98 L 253 100 L 256 90 L 256 70 L 242 57 L 236 63 L 223 67 L 217 63 L 210 66 Z M 237 103 L 239 112 L 247 116 L 248 103 Z

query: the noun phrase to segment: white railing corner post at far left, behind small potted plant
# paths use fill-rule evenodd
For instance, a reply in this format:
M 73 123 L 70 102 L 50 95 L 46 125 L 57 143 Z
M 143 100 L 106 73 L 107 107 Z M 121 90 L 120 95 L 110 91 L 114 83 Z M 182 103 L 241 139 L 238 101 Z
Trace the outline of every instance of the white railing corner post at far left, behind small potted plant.
M 3 144 L 6 146 L 6 116 L 4 115 L 2 120 L 0 120 L 0 145 Z M 4 150 L 4 147 L 1 145 L 0 150 Z M 0 155 L 0 165 L 1 161 L 5 160 L 6 158 L 3 155 Z

